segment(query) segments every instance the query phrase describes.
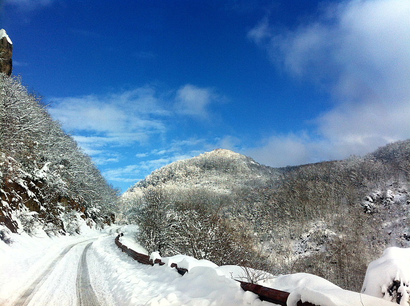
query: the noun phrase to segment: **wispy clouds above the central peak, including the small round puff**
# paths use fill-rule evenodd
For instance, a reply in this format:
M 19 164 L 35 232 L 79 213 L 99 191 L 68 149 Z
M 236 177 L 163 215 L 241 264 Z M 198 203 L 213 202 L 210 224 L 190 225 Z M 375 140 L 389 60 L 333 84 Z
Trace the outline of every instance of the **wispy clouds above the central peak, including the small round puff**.
M 202 153 L 204 139 L 173 140 L 184 137 L 175 130 L 183 117 L 206 118 L 209 104 L 216 99 L 211 89 L 191 84 L 167 92 L 147 85 L 106 96 L 53 98 L 49 112 L 101 166 L 109 181 L 124 184 Z M 140 151 L 144 148 L 148 150 Z M 129 161 L 132 164 L 124 166 Z

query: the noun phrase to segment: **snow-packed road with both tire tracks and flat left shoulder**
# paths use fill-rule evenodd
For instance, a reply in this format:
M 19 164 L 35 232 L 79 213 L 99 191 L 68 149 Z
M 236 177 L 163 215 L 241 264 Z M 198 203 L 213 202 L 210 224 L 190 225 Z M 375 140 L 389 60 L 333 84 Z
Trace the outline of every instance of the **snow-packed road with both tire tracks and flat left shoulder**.
M 115 233 L 116 229 L 111 229 L 109 233 Z M 94 291 L 88 265 L 93 242 L 98 238 L 112 239 L 109 233 L 66 239 L 72 240 L 71 243 L 55 239 L 54 244 L 48 242 L 44 247 L 36 244 L 24 253 L 16 249 L 14 254 L 11 252 L 11 256 L 0 253 L 0 256 L 5 257 L 0 257 L 0 304 L 116 305 L 107 292 Z M 95 271 L 93 274 L 98 275 Z M 106 289 L 101 286 L 96 288 Z M 97 298 L 97 295 L 102 298 Z

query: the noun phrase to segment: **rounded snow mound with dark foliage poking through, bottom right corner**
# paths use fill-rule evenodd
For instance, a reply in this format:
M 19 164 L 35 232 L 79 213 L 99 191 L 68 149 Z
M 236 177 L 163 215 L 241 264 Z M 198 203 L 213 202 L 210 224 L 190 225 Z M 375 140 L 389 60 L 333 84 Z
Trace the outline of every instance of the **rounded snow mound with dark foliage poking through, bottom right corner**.
M 410 248 L 391 247 L 372 261 L 361 292 L 410 306 Z

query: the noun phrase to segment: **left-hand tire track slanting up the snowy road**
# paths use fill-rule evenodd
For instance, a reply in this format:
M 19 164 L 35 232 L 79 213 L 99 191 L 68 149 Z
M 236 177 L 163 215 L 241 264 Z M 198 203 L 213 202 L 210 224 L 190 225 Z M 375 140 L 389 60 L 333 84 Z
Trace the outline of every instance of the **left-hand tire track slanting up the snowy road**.
M 95 240 L 95 239 L 88 239 L 89 240 Z M 84 243 L 86 241 L 80 242 Z M 70 245 L 66 247 L 56 258 L 51 261 L 51 264 L 47 267 L 47 269 L 40 274 L 32 283 L 31 285 L 23 292 L 22 295 L 20 295 L 17 300 L 14 302 L 14 305 L 16 306 L 27 306 L 33 296 L 37 293 L 40 287 L 42 287 L 43 283 L 46 281 L 48 276 L 51 274 L 51 272 L 54 270 L 55 266 L 59 263 L 59 261 L 76 245 L 80 244 L 76 243 L 73 245 Z

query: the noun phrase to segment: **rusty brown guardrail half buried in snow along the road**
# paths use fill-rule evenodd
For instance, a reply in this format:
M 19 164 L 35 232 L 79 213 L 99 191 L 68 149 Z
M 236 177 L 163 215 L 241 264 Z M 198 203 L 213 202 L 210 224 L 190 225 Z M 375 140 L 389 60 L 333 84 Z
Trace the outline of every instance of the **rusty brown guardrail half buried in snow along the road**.
M 150 256 L 145 255 L 145 254 L 141 254 L 138 252 L 135 252 L 132 249 L 129 249 L 127 246 L 123 245 L 120 241 L 119 241 L 119 237 L 122 236 L 124 234 L 120 233 L 118 234 L 118 236 L 115 238 L 115 244 L 117 245 L 118 248 L 121 249 L 122 252 L 127 253 L 131 258 L 135 259 L 138 261 L 138 263 L 141 264 L 145 264 L 145 265 L 151 265 L 154 266 L 155 264 L 158 264 L 160 266 L 165 265 L 165 263 L 163 263 L 161 261 L 161 259 L 157 258 L 155 260 L 150 260 Z M 184 268 L 178 268 L 177 264 L 171 264 L 171 268 L 175 268 L 179 274 L 184 275 L 185 273 L 188 272 L 187 269 Z M 267 302 L 271 302 L 271 303 L 275 303 L 275 304 L 279 304 L 281 306 L 286 306 L 286 301 L 288 300 L 289 297 L 289 292 L 286 291 L 280 291 L 280 290 L 276 290 L 273 288 L 268 288 L 268 287 L 263 287 L 260 285 L 256 285 L 255 283 L 250 283 L 250 282 L 246 282 L 246 281 L 240 281 L 240 287 L 244 290 L 244 291 L 251 291 L 255 294 L 257 294 L 259 296 L 259 299 L 262 301 L 267 301 Z M 302 302 L 302 301 L 298 301 L 297 306 L 319 306 L 319 305 L 315 305 L 309 302 Z

